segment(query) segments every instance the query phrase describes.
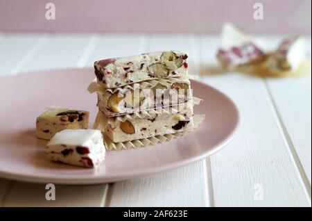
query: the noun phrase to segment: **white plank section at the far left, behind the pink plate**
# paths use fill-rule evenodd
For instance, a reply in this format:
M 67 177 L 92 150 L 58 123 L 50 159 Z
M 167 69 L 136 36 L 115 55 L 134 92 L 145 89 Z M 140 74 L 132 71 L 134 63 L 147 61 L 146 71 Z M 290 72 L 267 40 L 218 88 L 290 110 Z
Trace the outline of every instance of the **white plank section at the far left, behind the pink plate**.
M 51 35 L 8 33 L 0 41 L 0 76 L 17 74 L 49 42 Z

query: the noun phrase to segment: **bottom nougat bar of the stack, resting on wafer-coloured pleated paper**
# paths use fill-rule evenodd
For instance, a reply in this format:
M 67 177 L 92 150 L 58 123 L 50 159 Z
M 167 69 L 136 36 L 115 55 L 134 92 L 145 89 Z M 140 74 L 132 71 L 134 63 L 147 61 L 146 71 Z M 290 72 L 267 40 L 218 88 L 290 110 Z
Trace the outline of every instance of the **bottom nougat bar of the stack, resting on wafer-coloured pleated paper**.
M 125 142 L 153 136 L 186 131 L 193 127 L 193 105 L 181 104 L 183 108 L 173 113 L 151 113 L 145 117 L 106 117 L 98 113 L 99 125 L 112 142 Z

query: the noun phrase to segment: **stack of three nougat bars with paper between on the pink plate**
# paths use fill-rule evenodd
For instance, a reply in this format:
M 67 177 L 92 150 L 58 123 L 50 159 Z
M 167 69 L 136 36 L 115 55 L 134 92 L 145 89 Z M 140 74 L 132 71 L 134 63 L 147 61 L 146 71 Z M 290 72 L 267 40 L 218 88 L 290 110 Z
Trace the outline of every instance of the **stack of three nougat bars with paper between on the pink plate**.
M 116 143 L 191 129 L 187 58 L 181 51 L 158 51 L 96 61 L 89 92 L 97 94 L 97 124 L 105 136 Z

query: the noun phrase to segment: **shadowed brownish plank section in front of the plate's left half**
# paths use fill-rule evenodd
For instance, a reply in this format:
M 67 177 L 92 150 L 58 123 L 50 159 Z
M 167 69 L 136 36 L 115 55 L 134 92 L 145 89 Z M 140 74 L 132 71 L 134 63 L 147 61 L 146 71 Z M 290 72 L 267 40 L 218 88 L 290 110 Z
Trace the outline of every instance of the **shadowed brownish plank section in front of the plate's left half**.
M 107 185 L 55 185 L 55 200 L 47 191 L 45 184 L 16 182 L 3 206 L 102 206 Z

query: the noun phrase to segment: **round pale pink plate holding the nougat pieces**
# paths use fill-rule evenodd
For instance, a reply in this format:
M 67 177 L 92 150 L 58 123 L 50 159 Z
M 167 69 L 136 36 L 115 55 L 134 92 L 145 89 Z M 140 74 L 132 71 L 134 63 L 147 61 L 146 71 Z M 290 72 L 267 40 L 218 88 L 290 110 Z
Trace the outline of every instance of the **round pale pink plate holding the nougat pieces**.
M 223 93 L 192 81 L 193 94 L 204 99 L 195 113 L 205 121 L 187 136 L 153 147 L 107 152 L 96 169 L 53 163 L 46 159 L 46 141 L 35 136 L 35 119 L 48 106 L 90 111 L 93 124 L 96 95 L 87 92 L 92 69 L 62 69 L 0 79 L 0 177 L 40 183 L 106 183 L 170 170 L 199 161 L 224 147 L 234 136 L 239 112 Z

